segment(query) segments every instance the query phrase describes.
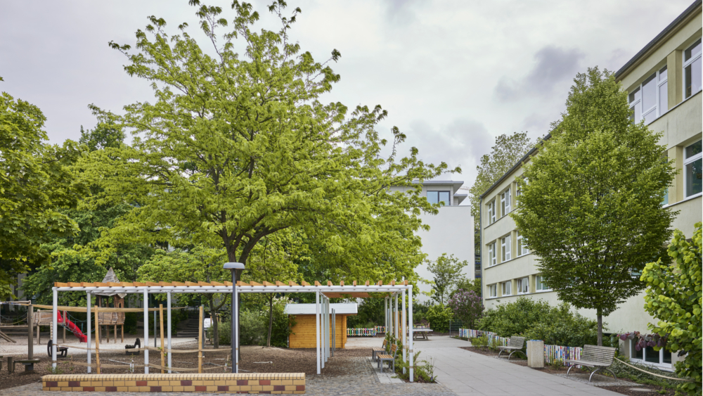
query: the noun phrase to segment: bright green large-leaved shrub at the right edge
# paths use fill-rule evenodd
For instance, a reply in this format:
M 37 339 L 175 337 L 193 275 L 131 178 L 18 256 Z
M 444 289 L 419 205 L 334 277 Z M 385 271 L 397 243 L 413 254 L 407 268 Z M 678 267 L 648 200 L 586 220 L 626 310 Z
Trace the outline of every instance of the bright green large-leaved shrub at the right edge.
M 686 354 L 675 367 L 678 376 L 694 381 L 679 384 L 678 389 L 689 395 L 699 395 L 702 390 L 701 226 L 700 222 L 695 224 L 690 240 L 681 231 L 674 231 L 668 249 L 673 264 L 650 262 L 640 277 L 647 285 L 645 310 L 659 319 L 656 326 L 649 325 L 650 329 L 667 337 L 666 349 L 679 351 L 679 356 Z

